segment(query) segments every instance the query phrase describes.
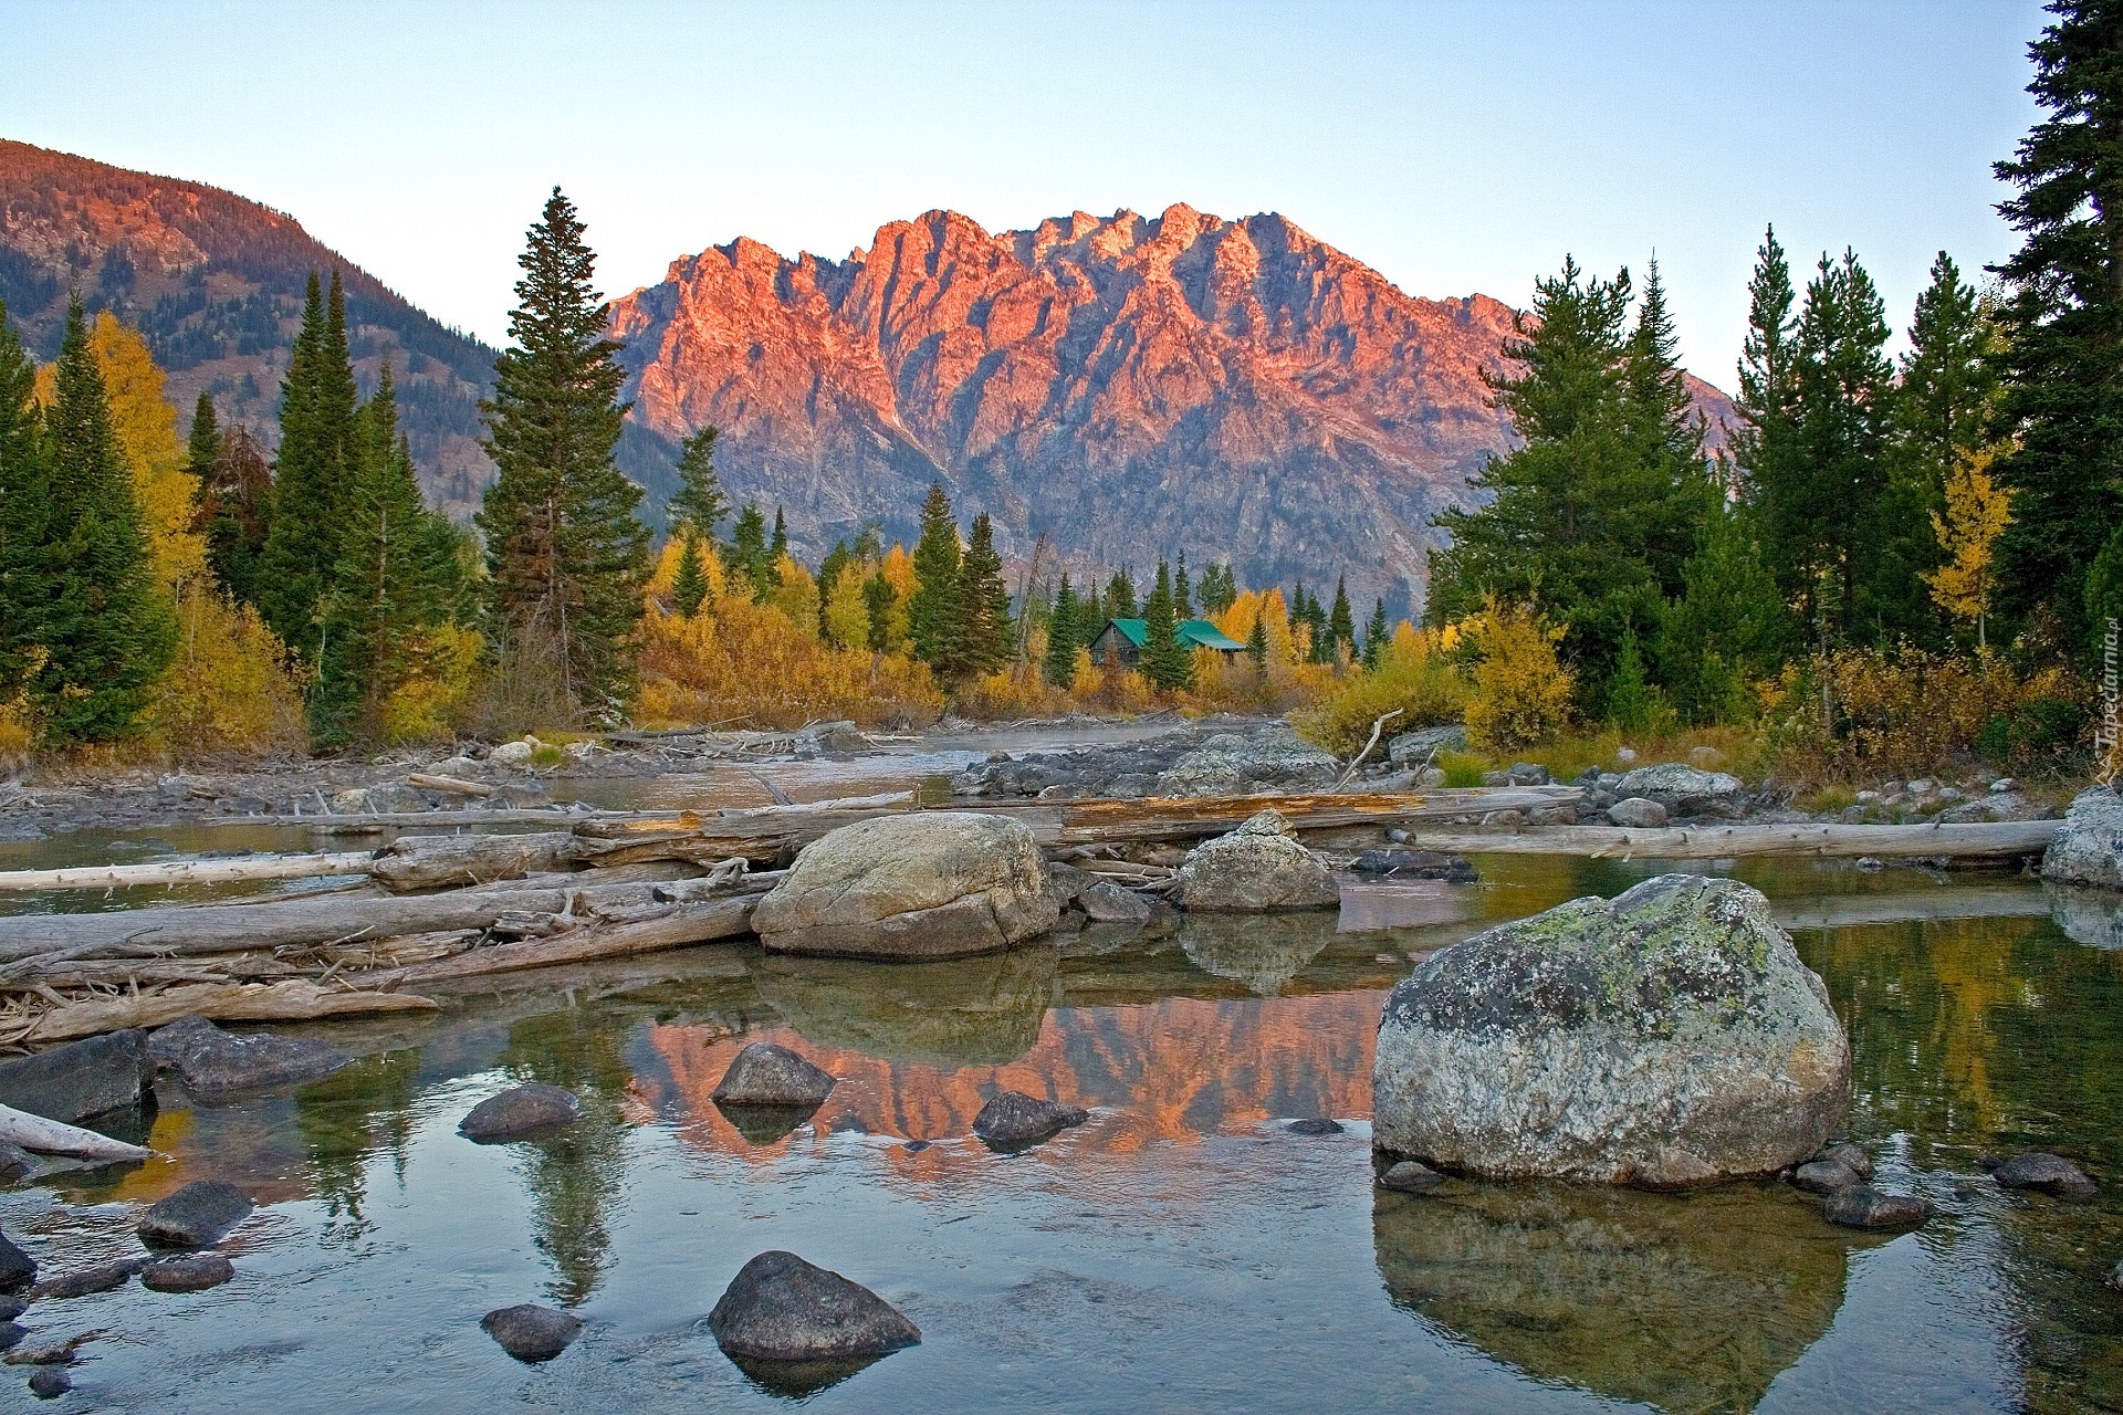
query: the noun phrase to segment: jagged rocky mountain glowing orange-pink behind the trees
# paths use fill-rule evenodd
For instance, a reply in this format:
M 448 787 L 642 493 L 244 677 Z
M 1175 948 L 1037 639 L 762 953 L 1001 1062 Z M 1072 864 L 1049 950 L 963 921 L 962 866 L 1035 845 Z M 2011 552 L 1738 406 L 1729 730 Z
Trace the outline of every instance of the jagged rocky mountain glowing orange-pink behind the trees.
M 735 496 L 786 505 L 813 556 L 909 537 L 943 482 L 1019 560 L 1045 535 L 1140 586 L 1185 549 L 1397 609 L 1431 518 L 1512 446 L 1482 382 L 1509 333 L 1486 295 L 1418 299 L 1284 216 L 1189 206 L 1002 233 L 938 210 L 845 261 L 737 240 L 611 308 L 633 475 L 667 492 L 713 424 Z M 1692 388 L 1722 437 L 1730 403 Z

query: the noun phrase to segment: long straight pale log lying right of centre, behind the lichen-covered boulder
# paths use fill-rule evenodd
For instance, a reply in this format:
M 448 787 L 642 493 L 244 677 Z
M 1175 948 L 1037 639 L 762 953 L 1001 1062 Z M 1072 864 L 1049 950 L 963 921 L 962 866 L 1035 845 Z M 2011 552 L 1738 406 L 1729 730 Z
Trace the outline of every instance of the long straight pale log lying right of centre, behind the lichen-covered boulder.
M 1739 859 L 1743 855 L 2040 855 L 2064 821 L 1993 825 L 1526 825 L 1524 829 L 1408 832 L 1408 849 L 1452 855 L 1586 855 L 1592 859 Z

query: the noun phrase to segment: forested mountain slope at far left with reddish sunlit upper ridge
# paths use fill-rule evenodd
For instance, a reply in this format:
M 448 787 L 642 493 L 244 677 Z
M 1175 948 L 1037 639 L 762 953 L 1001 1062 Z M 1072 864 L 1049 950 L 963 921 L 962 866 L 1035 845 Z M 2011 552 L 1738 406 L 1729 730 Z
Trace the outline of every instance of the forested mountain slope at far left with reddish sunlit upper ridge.
M 208 390 L 223 420 L 278 441 L 280 375 L 310 272 L 346 282 L 348 337 L 367 392 L 395 365 L 399 426 L 429 499 L 456 518 L 493 462 L 478 446 L 495 350 L 446 329 L 376 276 L 257 202 L 0 140 L 0 299 L 28 344 L 59 348 L 68 284 L 89 310 L 138 325 L 189 416 Z

